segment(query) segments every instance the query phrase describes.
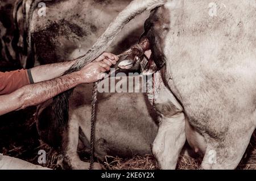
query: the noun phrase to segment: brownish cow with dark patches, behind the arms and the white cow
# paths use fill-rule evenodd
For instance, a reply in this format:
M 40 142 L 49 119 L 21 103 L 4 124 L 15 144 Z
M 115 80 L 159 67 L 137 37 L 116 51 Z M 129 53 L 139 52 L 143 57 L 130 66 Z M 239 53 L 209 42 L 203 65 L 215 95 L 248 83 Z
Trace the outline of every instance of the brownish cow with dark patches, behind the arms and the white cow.
M 44 3 L 46 9 L 39 3 Z M 13 15 L 14 28 L 18 32 L 15 45 L 19 49 L 16 53 L 20 64 L 31 68 L 81 56 L 129 3 L 127 0 L 16 1 Z M 43 10 L 46 16 L 40 14 Z M 136 44 L 147 16 L 146 13 L 133 20 L 133 24 L 122 31 L 108 51 L 118 54 Z M 122 79 L 122 82 L 126 81 L 126 78 Z M 69 108 L 68 129 L 64 134 L 61 129 L 53 129 L 55 120 L 49 117 L 52 111 L 48 106 L 51 101 L 38 109 L 39 135 L 49 145 L 60 148 L 65 169 L 88 169 L 89 166 L 80 160 L 78 151 L 90 149 L 91 89 L 92 85 L 75 89 Z M 98 159 L 104 160 L 106 155 L 131 157 L 151 154 L 151 144 L 158 130 L 155 123 L 158 115 L 146 94 L 104 93 L 100 95 L 97 107 Z

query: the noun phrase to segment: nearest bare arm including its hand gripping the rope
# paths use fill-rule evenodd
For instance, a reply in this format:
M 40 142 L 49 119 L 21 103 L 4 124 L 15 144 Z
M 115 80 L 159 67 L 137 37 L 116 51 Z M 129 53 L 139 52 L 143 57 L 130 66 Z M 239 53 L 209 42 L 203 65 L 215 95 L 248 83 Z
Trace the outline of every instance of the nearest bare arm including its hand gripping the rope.
M 116 60 L 96 59 L 85 66 L 80 71 L 63 75 L 51 79 L 26 85 L 11 94 L 0 96 L 0 115 L 20 110 L 29 106 L 35 106 L 53 98 L 61 92 L 72 89 L 80 83 L 96 82 L 105 77 L 105 71 L 110 70 L 110 66 L 115 64 Z

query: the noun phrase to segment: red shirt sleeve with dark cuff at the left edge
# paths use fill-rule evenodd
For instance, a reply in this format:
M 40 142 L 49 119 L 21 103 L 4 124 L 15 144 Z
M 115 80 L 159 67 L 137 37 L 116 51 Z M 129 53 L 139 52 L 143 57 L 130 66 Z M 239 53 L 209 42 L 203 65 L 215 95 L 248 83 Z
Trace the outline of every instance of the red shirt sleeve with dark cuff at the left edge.
M 29 84 L 27 70 L 0 72 L 0 95 L 10 94 Z

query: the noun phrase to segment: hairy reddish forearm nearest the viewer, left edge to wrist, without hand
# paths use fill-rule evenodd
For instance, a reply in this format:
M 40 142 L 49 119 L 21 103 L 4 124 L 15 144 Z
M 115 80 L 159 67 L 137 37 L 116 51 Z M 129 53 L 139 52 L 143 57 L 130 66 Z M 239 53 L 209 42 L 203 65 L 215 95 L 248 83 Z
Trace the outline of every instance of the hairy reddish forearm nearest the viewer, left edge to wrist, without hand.
M 9 95 L 0 96 L 0 115 L 43 103 L 82 82 L 81 75 L 75 72 L 51 81 L 24 86 Z

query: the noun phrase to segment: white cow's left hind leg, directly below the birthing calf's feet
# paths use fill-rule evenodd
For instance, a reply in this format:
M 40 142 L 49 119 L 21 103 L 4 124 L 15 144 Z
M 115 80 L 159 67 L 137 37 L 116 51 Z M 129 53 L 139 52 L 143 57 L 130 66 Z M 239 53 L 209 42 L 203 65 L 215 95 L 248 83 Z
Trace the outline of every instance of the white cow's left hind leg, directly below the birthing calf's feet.
M 174 95 L 164 86 L 160 88 L 155 107 L 162 115 L 162 120 L 152 152 L 160 169 L 175 169 L 186 140 L 185 116 Z

